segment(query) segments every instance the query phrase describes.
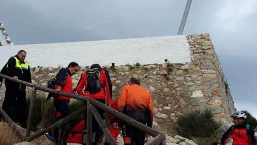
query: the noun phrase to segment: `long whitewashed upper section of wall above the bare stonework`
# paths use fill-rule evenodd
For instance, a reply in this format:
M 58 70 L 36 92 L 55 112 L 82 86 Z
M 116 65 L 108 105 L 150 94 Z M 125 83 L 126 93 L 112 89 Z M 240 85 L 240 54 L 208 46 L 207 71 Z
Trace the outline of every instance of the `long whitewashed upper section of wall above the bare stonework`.
M 100 65 L 154 64 L 191 62 L 190 46 L 185 35 L 66 42 L 33 45 L 12 45 L 0 47 L 0 67 L 18 50 L 27 51 L 26 60 L 31 67 L 67 66 L 71 61 L 81 66 L 93 63 Z M 0 68 L 1 69 L 1 68 Z

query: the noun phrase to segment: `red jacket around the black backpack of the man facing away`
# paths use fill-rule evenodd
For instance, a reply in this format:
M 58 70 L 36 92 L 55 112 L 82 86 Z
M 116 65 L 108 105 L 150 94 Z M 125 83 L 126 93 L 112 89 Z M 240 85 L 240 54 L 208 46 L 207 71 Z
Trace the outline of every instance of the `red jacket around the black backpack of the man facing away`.
M 112 103 L 112 83 L 110 79 L 110 75 L 106 69 L 103 69 L 100 74 L 100 82 L 103 85 L 101 90 L 96 93 L 89 93 L 88 91 L 85 91 L 83 93 L 84 87 L 87 87 L 87 74 L 86 72 L 81 74 L 81 78 L 79 79 L 79 83 L 77 85 L 77 92 L 79 95 L 84 95 L 93 99 L 106 99 L 107 98 L 107 104 Z

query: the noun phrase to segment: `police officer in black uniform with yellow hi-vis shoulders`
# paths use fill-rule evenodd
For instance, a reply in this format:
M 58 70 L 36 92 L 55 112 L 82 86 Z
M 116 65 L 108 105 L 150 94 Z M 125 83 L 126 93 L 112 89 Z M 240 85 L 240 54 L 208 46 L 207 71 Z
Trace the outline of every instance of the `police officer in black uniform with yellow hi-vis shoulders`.
M 15 118 L 15 121 L 18 121 L 23 127 L 26 127 L 28 117 L 26 86 L 15 81 L 20 79 L 31 83 L 29 63 L 25 61 L 26 55 L 25 50 L 18 51 L 18 54 L 11 57 L 1 70 L 1 74 L 13 78 L 12 81 L 5 80 L 6 92 L 2 108 L 8 116 Z M 0 78 L 0 87 L 2 80 L 3 78 Z M 11 111 L 12 107 L 14 107 L 14 112 Z

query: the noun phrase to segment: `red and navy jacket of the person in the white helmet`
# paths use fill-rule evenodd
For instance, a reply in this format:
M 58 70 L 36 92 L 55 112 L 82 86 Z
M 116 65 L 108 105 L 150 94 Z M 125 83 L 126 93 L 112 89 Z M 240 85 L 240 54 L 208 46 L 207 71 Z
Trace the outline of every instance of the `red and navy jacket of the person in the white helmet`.
M 232 145 L 254 145 L 255 137 L 254 130 L 249 126 L 249 130 L 246 129 L 246 124 L 241 124 L 237 126 L 231 126 L 222 136 L 221 145 L 225 145 L 229 137 L 232 137 Z

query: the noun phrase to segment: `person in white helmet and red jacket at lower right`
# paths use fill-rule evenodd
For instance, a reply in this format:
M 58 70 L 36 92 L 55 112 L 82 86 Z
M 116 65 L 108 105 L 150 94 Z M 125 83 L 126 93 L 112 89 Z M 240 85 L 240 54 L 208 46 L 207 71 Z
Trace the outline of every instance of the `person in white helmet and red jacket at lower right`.
M 221 145 L 225 145 L 229 137 L 232 137 L 232 145 L 255 145 L 254 130 L 251 125 L 246 124 L 246 114 L 244 112 L 235 112 L 231 115 L 232 125 L 222 136 Z

